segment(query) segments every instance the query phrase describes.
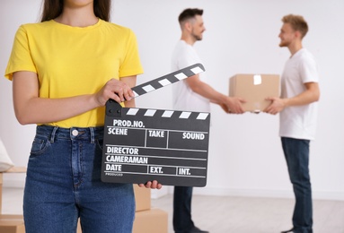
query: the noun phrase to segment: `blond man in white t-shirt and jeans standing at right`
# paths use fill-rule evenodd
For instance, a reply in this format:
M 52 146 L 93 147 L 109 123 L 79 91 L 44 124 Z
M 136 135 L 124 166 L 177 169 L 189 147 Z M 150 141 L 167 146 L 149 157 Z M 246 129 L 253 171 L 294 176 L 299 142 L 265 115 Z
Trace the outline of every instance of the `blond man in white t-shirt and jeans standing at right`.
M 281 97 L 269 98 L 272 103 L 265 112 L 280 113 L 279 135 L 295 194 L 293 229 L 282 232 L 310 233 L 313 232 L 313 204 L 309 143 L 315 138 L 319 76 L 312 54 L 302 46 L 307 22 L 293 14 L 284 16 L 282 22 L 279 47 L 287 47 L 291 56 L 281 76 Z

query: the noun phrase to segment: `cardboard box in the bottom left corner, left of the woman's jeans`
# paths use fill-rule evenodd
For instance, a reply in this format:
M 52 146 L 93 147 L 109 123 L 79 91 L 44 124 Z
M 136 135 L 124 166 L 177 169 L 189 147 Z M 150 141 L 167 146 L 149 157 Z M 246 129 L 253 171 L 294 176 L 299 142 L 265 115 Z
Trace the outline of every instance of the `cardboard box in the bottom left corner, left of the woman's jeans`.
M 0 215 L 0 233 L 25 233 L 22 215 Z

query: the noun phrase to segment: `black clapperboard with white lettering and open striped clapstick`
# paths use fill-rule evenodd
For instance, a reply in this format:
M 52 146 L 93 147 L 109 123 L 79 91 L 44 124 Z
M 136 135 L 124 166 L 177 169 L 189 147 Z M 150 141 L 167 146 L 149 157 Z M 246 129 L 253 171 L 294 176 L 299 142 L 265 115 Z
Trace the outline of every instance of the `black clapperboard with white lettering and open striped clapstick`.
M 204 72 L 190 65 L 134 87 L 135 96 Z M 210 114 L 106 104 L 101 180 L 169 186 L 206 186 Z

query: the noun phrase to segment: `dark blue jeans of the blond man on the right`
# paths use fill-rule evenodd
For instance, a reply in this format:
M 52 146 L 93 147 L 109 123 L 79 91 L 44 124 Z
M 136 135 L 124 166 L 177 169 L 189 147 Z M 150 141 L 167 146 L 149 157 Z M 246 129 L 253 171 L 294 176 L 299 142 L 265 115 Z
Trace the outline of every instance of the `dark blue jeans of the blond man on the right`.
M 290 181 L 295 194 L 294 232 L 313 232 L 312 187 L 309 176 L 309 140 L 282 137 Z

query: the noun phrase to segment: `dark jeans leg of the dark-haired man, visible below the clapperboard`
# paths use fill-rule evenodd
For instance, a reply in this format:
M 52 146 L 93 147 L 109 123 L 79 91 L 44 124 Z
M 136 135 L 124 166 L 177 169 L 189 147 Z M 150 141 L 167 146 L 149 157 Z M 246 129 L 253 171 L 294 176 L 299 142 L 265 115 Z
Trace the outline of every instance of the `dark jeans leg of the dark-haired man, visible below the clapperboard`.
M 173 229 L 175 232 L 187 232 L 195 227 L 191 220 L 192 187 L 174 186 Z

